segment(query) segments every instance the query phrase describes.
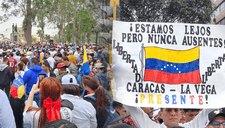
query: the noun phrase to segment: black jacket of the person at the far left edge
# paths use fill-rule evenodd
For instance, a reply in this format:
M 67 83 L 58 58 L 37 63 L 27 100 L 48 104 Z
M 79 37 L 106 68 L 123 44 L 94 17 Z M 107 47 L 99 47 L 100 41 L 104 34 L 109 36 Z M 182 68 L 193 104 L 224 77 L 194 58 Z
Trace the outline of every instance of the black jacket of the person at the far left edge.
M 0 86 L 5 87 L 13 81 L 14 75 L 10 67 L 6 64 L 0 64 Z

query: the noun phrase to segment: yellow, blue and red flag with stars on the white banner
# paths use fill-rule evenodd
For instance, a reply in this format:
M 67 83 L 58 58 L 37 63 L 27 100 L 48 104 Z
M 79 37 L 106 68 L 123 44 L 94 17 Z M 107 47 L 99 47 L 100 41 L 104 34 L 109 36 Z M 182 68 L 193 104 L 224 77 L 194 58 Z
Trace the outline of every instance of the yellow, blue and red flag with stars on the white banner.
M 144 81 L 167 84 L 201 83 L 199 47 L 185 51 L 146 47 Z

